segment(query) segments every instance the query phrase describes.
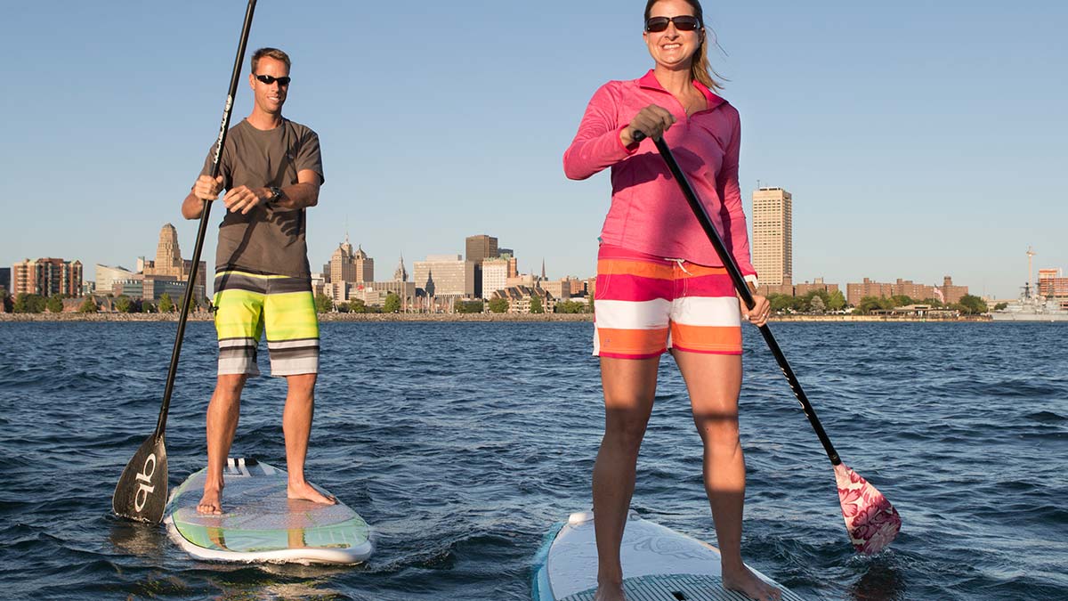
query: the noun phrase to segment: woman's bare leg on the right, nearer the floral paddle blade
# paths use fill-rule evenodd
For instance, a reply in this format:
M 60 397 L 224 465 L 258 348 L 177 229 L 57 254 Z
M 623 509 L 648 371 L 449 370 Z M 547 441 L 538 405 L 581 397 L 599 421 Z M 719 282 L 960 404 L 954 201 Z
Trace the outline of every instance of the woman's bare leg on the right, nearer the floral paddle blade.
M 705 491 L 716 523 L 723 586 L 750 599 L 778 601 L 782 592 L 756 576 L 741 559 L 745 459 L 738 438 L 741 356 L 676 352 L 690 392 L 693 421 L 704 443 Z

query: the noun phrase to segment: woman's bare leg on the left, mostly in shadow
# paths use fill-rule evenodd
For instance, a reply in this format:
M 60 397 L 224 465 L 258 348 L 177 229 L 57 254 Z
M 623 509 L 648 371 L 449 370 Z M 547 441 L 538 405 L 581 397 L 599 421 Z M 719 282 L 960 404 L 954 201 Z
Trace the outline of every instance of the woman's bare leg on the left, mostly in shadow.
M 597 537 L 597 601 L 621 601 L 619 544 L 634 494 L 634 468 L 653 412 L 660 357 L 601 357 L 604 437 L 594 464 L 594 531 Z

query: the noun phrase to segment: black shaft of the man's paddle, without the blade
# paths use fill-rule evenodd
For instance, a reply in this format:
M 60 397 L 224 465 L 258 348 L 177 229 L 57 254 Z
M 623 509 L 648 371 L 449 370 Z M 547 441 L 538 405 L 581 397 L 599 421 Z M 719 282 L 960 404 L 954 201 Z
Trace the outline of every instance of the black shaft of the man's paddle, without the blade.
M 219 138 L 215 144 L 215 157 L 211 163 L 211 179 L 219 176 L 219 160 L 222 158 L 222 148 L 226 142 L 226 130 L 230 128 L 230 115 L 234 109 L 234 95 L 237 94 L 237 82 L 241 76 L 241 62 L 245 61 L 245 47 L 249 41 L 249 29 L 252 28 L 252 13 L 255 12 L 256 0 L 249 0 L 245 12 L 245 25 L 241 27 L 241 41 L 237 46 L 237 58 L 234 60 L 234 72 L 230 76 L 230 92 L 226 94 L 226 105 L 222 111 L 222 123 L 219 125 Z M 197 271 L 200 267 L 201 250 L 204 248 L 204 236 L 207 233 L 208 215 L 211 203 L 204 201 L 201 211 L 200 229 L 197 231 L 197 244 L 193 247 L 192 267 L 189 269 L 189 281 L 186 282 L 185 299 L 182 302 L 182 314 L 178 318 L 178 332 L 174 337 L 174 349 L 171 351 L 171 367 L 167 371 L 167 385 L 163 388 L 163 403 L 159 407 L 159 419 L 156 421 L 156 437 L 163 435 L 167 427 L 167 412 L 171 407 L 171 392 L 174 390 L 174 376 L 178 372 L 178 355 L 182 354 L 182 339 L 186 333 L 186 320 L 189 317 L 189 306 L 193 297 L 193 284 L 197 282 Z

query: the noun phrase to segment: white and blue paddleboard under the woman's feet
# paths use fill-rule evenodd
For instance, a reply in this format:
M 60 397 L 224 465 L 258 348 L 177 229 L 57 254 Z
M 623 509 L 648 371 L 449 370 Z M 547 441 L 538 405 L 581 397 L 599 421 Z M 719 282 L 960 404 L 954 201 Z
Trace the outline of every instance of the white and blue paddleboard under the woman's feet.
M 720 552 L 700 540 L 643 520 L 627 519 L 619 548 L 623 588 L 634 601 L 748 601 L 723 588 Z M 750 567 L 750 570 L 753 570 Z M 784 601 L 802 601 L 764 574 Z M 534 559 L 534 601 L 593 601 L 597 591 L 597 543 L 592 511 L 571 513 L 546 537 Z

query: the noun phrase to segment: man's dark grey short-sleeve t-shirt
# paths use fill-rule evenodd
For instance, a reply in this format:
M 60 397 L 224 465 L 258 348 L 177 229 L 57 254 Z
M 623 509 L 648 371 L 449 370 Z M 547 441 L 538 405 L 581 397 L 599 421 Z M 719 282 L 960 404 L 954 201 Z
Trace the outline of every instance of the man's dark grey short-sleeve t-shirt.
M 204 160 L 202 175 L 211 173 L 215 147 Z M 288 119 L 273 129 L 256 129 L 248 122 L 230 128 L 219 161 L 222 187 L 285 187 L 297 183 L 297 172 L 311 169 L 323 178 L 319 137 Z M 304 210 L 282 211 L 263 204 L 249 211 L 226 211 L 219 225 L 215 269 L 310 277 L 304 243 Z

